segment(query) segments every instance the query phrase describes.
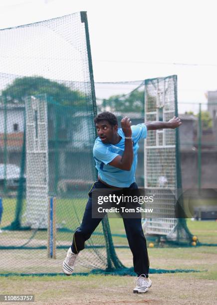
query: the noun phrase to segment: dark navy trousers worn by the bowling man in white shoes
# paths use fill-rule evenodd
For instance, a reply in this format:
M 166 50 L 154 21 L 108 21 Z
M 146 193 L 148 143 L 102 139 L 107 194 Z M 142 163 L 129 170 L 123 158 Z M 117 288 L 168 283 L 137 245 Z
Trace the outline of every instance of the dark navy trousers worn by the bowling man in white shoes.
M 101 181 L 93 184 L 89 191 L 89 199 L 87 201 L 86 209 L 84 212 L 83 220 L 79 228 L 74 232 L 71 250 L 73 253 L 78 253 L 84 249 L 84 243 L 88 240 L 94 232 L 102 218 L 92 218 L 92 190 L 94 188 L 110 188 Z M 138 188 L 134 182 L 129 186 L 130 189 Z M 133 254 L 133 265 L 135 273 L 140 276 L 149 273 L 149 258 L 147 251 L 146 238 L 143 233 L 141 218 L 123 218 L 124 227 Z

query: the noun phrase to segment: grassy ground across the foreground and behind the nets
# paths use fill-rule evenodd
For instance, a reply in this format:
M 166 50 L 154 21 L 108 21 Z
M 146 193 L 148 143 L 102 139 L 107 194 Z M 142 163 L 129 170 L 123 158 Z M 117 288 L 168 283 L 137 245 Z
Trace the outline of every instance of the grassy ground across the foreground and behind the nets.
M 8 225 L 14 217 L 15 199 L 5 199 L 2 224 Z M 86 201 L 57 200 L 57 223 L 71 227 L 72 220 L 79 224 L 77 217 L 82 217 Z M 74 213 L 74 206 L 78 215 Z M 121 218 L 109 219 L 112 234 L 125 234 Z M 191 221 L 187 225 L 192 234 L 198 236 L 202 243 L 217 244 L 217 222 Z M 32 231 L 9 231 L 0 234 L 3 240 L 27 240 Z M 72 233 L 58 232 L 58 243 L 70 244 Z M 46 245 L 47 232 L 38 231 L 35 241 Z M 97 235 L 92 236 L 94 243 L 102 242 Z M 115 245 L 128 245 L 126 237 L 113 236 Z M 88 251 L 88 250 L 84 250 Z M 1 250 L 1 257 L 15 262 L 17 270 L 24 268 L 26 257 L 31 268 L 37 272 L 40 266 L 49 266 L 52 272 L 61 271 L 61 257 L 64 250 L 57 250 L 57 259 L 49 260 L 46 250 Z M 129 248 L 116 248 L 116 253 L 126 267 L 132 267 L 132 254 Z M 153 274 L 153 287 L 148 294 L 134 295 L 132 277 L 88 275 L 88 276 L 56 276 L 56 277 L 0 277 L 1 294 L 34 294 L 38 304 L 216 304 L 217 300 L 217 247 L 196 246 L 187 248 L 148 248 L 150 267 L 154 269 L 193 269 L 199 272 L 176 274 Z M 61 254 L 61 255 L 60 255 Z M 88 258 L 87 258 L 88 259 Z M 165 289 L 166 287 L 166 289 Z M 203 287 L 201 290 L 200 288 Z

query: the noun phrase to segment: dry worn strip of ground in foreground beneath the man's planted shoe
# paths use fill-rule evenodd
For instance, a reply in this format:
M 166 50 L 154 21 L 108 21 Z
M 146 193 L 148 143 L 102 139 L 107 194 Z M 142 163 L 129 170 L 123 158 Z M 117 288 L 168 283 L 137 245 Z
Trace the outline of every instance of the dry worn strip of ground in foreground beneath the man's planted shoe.
M 0 279 L 1 293 L 35 295 L 35 304 L 217 305 L 217 281 L 194 274 L 152 275 L 146 294 L 133 294 L 134 278 L 118 276 Z M 24 288 L 24 289 L 23 289 Z M 16 303 L 18 304 L 18 303 Z M 21 303 L 20 303 L 21 304 Z

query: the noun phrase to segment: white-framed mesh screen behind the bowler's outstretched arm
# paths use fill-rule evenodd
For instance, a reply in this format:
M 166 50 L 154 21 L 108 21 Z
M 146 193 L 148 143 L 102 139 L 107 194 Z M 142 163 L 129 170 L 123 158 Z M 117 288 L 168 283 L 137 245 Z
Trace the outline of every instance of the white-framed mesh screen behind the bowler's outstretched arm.
M 167 122 L 174 116 L 178 116 L 177 77 L 146 80 L 145 122 L 153 119 Z M 177 243 L 189 243 L 192 235 L 186 229 L 186 220 L 175 218 L 178 189 L 182 189 L 179 130 L 150 131 L 148 138 L 144 147 L 145 188 L 147 194 L 154 192 L 155 208 L 153 217 L 145 221 L 144 229 L 147 234 L 158 235 L 159 239 L 164 236 Z M 179 203 L 183 206 L 181 198 Z

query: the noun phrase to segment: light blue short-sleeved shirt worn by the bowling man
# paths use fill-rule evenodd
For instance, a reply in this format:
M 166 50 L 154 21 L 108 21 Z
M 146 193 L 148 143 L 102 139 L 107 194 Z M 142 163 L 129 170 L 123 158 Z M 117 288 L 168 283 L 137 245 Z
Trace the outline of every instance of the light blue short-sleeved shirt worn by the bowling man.
M 109 185 L 117 187 L 129 187 L 135 182 L 135 171 L 137 167 L 138 141 L 147 137 L 147 127 L 143 124 L 131 126 L 133 141 L 133 163 L 130 170 L 123 170 L 109 165 L 116 156 L 123 155 L 125 136 L 122 129 L 118 129 L 121 141 L 118 144 L 103 144 L 98 137 L 93 147 L 93 156 L 96 161 L 96 168 L 99 177 Z

